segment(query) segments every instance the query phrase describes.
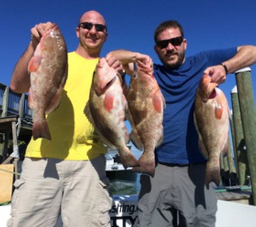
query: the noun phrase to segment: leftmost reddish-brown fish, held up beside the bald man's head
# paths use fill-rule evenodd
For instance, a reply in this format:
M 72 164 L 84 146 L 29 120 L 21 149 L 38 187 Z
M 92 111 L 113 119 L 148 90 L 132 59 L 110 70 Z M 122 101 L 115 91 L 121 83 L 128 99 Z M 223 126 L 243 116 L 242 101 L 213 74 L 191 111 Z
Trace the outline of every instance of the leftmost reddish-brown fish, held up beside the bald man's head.
M 28 70 L 31 73 L 29 107 L 34 111 L 33 139 L 51 140 L 45 115 L 59 107 L 67 79 L 67 48 L 56 24 L 46 27 Z

